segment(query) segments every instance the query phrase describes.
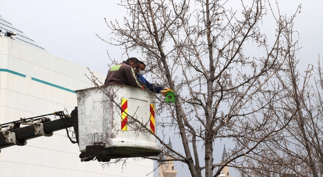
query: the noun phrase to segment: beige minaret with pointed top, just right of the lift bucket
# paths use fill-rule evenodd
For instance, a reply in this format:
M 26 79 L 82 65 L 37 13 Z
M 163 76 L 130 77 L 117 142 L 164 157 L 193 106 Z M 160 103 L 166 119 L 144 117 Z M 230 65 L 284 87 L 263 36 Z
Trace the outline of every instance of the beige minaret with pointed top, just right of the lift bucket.
M 171 138 L 168 143 L 168 146 L 172 148 Z M 166 151 L 169 155 L 173 155 L 173 152 L 169 149 Z M 166 156 L 166 159 L 172 159 L 172 157 Z M 166 161 L 162 162 L 159 166 L 159 177 L 175 177 L 177 174 L 177 170 L 174 170 L 174 161 Z

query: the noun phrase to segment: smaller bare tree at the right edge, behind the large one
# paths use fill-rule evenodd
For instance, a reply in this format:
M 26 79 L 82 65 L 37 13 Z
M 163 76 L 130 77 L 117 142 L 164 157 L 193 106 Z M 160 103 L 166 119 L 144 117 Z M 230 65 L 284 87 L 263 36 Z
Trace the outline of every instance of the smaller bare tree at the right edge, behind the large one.
M 291 30 L 286 33 L 292 40 Z M 264 143 L 265 153 L 261 160 L 249 162 L 252 168 L 240 169 L 244 176 L 322 176 L 322 69 L 318 60 L 317 68 L 308 65 L 301 74 L 296 65 L 295 52 L 299 50 L 297 41 L 291 45 L 286 68 L 283 75 L 277 76 L 286 96 L 282 106 L 284 111 L 295 113 L 286 128 L 281 132 L 280 139 L 272 139 Z M 315 74 L 314 74 L 315 72 Z M 251 175 L 250 175 L 251 174 Z

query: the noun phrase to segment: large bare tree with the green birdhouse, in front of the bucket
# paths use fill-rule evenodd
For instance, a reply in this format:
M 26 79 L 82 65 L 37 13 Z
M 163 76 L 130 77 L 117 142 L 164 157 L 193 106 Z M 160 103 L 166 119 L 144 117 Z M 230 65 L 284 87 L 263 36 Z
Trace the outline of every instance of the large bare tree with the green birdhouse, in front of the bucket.
M 173 157 L 168 160 L 186 163 L 192 176 L 202 176 L 202 170 L 207 177 L 217 176 L 225 166 L 242 174 L 248 170 L 262 176 L 285 174 L 282 169 L 294 161 L 279 155 L 275 142 L 286 141 L 285 129 L 301 111 L 291 65 L 298 50 L 291 36 L 296 13 L 287 18 L 277 7 L 275 14 L 268 1 L 241 1 L 239 12 L 227 9 L 226 3 L 128 0 L 121 6 L 129 16 L 122 23 L 106 22 L 115 37 L 100 39 L 123 46 L 127 55 L 140 52 L 153 82 L 177 95 L 175 104 L 156 96 L 158 113 L 164 116 L 158 120 L 160 130 L 166 135 L 164 129 L 174 129 L 184 148 L 184 152 L 170 148 L 163 136 L 155 135 L 174 152 L 163 152 Z M 270 40 L 259 27 L 266 7 L 277 25 Z M 288 107 L 286 101 L 291 100 L 294 104 Z M 131 118 L 145 129 L 144 122 Z M 235 148 L 227 159 L 215 163 L 214 147 L 224 138 L 230 138 Z

